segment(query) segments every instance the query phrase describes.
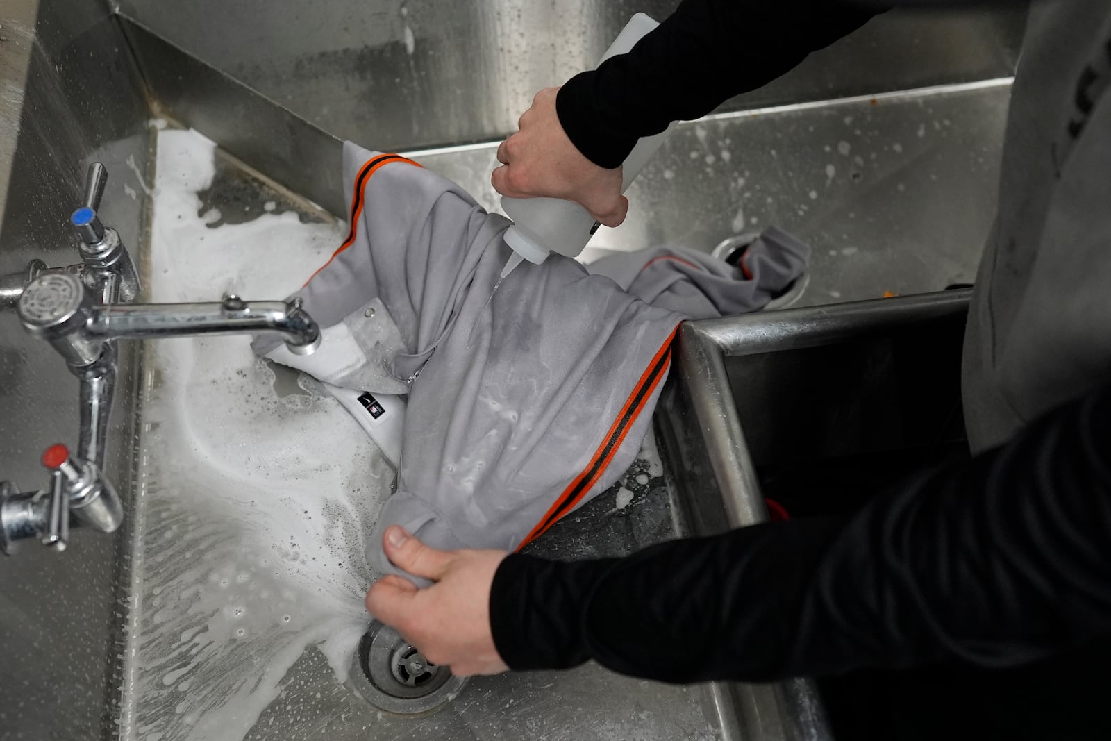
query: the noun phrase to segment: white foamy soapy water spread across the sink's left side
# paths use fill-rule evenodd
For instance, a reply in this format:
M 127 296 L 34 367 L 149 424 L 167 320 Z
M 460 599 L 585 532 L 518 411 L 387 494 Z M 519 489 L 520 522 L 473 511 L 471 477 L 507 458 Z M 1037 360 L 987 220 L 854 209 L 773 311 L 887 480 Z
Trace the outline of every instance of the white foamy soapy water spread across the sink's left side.
M 213 152 L 196 132 L 158 133 L 150 298 L 284 298 L 346 226 L 263 212 L 210 228 L 197 192 Z M 242 739 L 304 651 L 343 681 L 366 630 L 363 553 L 392 469 L 311 383 L 279 397 L 249 343 L 148 343 L 124 693 L 138 738 Z

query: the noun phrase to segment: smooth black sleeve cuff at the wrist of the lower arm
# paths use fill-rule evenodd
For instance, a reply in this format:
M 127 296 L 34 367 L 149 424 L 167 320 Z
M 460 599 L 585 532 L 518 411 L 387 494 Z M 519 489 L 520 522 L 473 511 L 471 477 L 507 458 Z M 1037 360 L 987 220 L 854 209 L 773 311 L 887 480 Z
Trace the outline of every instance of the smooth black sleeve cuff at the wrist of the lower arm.
M 570 669 L 590 657 L 582 611 L 617 559 L 564 563 L 511 553 L 490 585 L 494 648 L 513 670 Z

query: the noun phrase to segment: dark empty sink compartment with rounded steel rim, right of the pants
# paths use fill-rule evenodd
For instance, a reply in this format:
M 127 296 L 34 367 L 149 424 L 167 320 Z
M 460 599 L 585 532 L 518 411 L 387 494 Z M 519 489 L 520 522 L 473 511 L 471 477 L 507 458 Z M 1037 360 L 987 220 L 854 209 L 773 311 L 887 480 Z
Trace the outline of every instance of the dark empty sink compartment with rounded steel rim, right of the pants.
M 657 412 L 681 529 L 851 511 L 915 467 L 967 454 L 960 358 L 971 291 L 687 322 Z M 870 485 L 870 483 L 872 485 Z M 757 737 L 831 738 L 809 680 L 735 684 Z M 763 723 L 753 719 L 771 718 Z M 753 728 L 753 724 L 755 727 Z

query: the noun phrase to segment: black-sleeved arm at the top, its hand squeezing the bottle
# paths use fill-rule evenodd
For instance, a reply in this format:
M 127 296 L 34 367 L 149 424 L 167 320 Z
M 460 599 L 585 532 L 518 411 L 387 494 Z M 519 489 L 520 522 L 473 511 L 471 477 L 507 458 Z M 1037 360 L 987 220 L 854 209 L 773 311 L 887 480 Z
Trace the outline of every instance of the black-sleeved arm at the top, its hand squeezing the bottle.
M 631 52 L 569 80 L 560 122 L 588 159 L 618 167 L 638 138 L 770 82 L 874 12 L 844 0 L 683 0 Z

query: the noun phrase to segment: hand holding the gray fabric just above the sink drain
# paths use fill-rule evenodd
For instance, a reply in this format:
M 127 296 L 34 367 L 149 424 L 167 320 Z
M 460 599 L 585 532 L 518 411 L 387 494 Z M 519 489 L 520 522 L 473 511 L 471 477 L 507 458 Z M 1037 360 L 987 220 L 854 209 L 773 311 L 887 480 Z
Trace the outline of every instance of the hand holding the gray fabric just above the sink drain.
M 402 577 L 383 577 L 367 592 L 372 615 L 457 677 L 509 669 L 490 632 L 490 584 L 504 551 L 438 551 L 397 525 L 382 544 L 396 565 L 436 583 L 418 589 Z

